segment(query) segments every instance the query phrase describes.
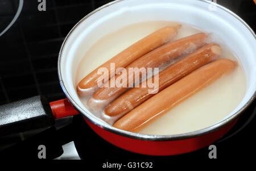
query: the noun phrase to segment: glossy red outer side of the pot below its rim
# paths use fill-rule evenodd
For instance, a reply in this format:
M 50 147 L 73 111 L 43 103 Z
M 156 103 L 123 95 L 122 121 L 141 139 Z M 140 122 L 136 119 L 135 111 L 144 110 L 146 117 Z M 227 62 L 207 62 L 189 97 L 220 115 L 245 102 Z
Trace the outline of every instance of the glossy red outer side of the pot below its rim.
M 151 156 L 180 155 L 211 145 L 214 141 L 224 136 L 234 126 L 236 121 L 237 120 L 234 120 L 217 131 L 188 139 L 147 141 L 114 134 L 113 132 L 104 130 L 85 119 L 85 122 L 88 123 L 92 130 L 109 143 L 116 145 L 119 148 L 126 149 L 127 151 Z

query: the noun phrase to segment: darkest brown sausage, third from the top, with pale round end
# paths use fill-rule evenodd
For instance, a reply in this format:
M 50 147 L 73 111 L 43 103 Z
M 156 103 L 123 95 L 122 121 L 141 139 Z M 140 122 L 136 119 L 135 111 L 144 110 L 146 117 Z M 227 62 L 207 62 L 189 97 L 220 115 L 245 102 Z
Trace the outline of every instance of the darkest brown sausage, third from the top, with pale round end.
M 120 97 L 115 99 L 105 109 L 105 114 L 109 116 L 124 115 L 133 110 L 135 107 L 141 105 L 148 98 L 152 97 L 159 91 L 170 86 L 177 80 L 180 80 L 187 74 L 208 64 L 209 62 L 217 59 L 221 54 L 221 48 L 217 44 L 207 44 L 197 51 L 191 53 L 184 59 L 177 61 L 175 64 L 169 66 L 159 73 L 159 86 L 156 89 L 150 87 L 142 87 L 143 83 L 138 88 L 133 88 Z M 155 80 L 154 77 L 152 80 Z M 146 81 L 145 81 L 146 82 Z M 146 83 L 144 85 L 147 85 Z M 150 93 L 150 91 L 155 93 Z

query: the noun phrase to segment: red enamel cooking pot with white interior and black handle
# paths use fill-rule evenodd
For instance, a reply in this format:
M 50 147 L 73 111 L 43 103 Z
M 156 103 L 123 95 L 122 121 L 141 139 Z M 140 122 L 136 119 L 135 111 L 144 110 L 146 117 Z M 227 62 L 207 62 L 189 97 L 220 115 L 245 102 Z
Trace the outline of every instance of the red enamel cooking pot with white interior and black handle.
M 144 135 L 119 130 L 97 118 L 82 104 L 76 93 L 75 75 L 82 58 L 86 60 L 85 52 L 101 37 L 121 27 L 154 20 L 187 23 L 213 32 L 222 37 L 222 41 L 238 56 L 246 73 L 246 93 L 236 109 L 226 118 L 210 127 L 185 134 Z M 82 18 L 61 46 L 58 73 L 67 99 L 48 104 L 42 97 L 34 97 L 3 105 L 0 107 L 0 130 L 7 133 L 15 131 L 16 128 L 22 131 L 31 127 L 50 126 L 54 119 L 81 114 L 96 134 L 127 151 L 159 156 L 192 152 L 224 136 L 236 124 L 243 110 L 253 102 L 256 95 L 255 47 L 253 30 L 232 11 L 210 1 L 113 1 Z

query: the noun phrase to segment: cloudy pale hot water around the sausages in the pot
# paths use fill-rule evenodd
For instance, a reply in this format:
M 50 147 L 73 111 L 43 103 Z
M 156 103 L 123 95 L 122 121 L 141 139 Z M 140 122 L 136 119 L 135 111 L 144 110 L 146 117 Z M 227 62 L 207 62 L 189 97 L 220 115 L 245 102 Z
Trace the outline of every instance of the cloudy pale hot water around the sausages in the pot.
M 80 66 L 77 69 L 76 84 L 92 70 L 131 44 L 159 28 L 172 26 L 173 24 L 175 23 L 164 21 L 133 24 L 102 37 L 92 45 L 80 62 Z M 200 32 L 198 28 L 183 24 L 176 39 L 198 32 Z M 223 50 L 221 57 L 238 61 L 219 37 L 214 36 L 214 34 L 210 35 L 210 37 L 210 42 L 221 45 Z M 141 134 L 171 135 L 192 132 L 212 126 L 229 115 L 240 103 L 245 94 L 245 79 L 245 73 L 239 64 L 234 72 L 221 77 L 138 132 Z M 85 106 L 87 100 L 88 98 L 81 98 Z

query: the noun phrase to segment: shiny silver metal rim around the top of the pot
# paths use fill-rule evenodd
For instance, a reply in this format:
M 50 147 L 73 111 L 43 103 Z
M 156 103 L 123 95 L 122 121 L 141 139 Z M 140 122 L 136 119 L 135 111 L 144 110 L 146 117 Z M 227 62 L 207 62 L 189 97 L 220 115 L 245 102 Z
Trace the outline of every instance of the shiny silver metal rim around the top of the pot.
M 197 131 L 193 131 L 193 132 L 187 132 L 184 134 L 175 134 L 175 135 L 147 135 L 147 134 L 138 134 L 138 133 L 134 133 L 134 132 L 129 132 L 129 131 L 124 131 L 124 130 L 120 130 L 118 128 L 115 128 L 113 126 L 110 126 L 107 123 L 98 123 L 96 119 L 94 119 L 90 114 L 88 114 L 86 111 L 82 110 L 82 108 L 76 103 L 75 100 L 73 100 L 73 98 L 71 97 L 71 95 L 69 95 L 65 84 L 63 82 L 63 78 L 61 75 L 61 69 L 60 69 L 60 61 L 61 61 L 61 56 L 62 56 L 62 52 L 63 52 L 63 48 L 65 46 L 66 41 L 68 40 L 69 36 L 72 34 L 72 32 L 82 23 L 84 22 L 84 20 L 88 19 L 90 16 L 92 16 L 94 13 L 105 9 L 108 6 L 114 5 L 115 3 L 119 3 L 122 1 L 127 1 L 127 0 L 115 0 L 113 2 L 109 2 L 104 6 L 98 7 L 98 9 L 93 10 L 92 12 L 90 12 L 88 15 L 84 16 L 84 18 L 82 18 L 78 23 L 76 23 L 76 25 L 71 29 L 71 31 L 69 31 L 68 35 L 65 37 L 63 44 L 61 45 L 60 48 L 60 52 L 59 52 L 59 57 L 58 57 L 58 62 L 57 62 L 57 68 L 58 68 L 58 76 L 59 76 L 59 81 L 60 81 L 60 86 L 64 91 L 64 94 L 66 95 L 66 97 L 69 99 L 69 101 L 73 104 L 73 106 L 81 112 L 82 115 L 84 115 L 84 117 L 86 119 L 88 119 L 90 122 L 92 122 L 93 124 L 95 124 L 96 126 L 99 126 L 101 128 L 103 128 L 106 131 L 110 131 L 114 134 L 117 135 L 121 135 L 121 136 L 125 136 L 125 137 L 130 137 L 133 139 L 138 139 L 138 140 L 146 140 L 146 141 L 170 141 L 170 140 L 183 140 L 183 139 L 189 139 L 192 137 L 197 137 L 197 136 L 201 136 L 201 135 L 205 135 L 205 134 L 209 134 L 210 132 L 213 131 L 217 131 L 219 130 L 221 127 L 226 126 L 226 124 L 232 122 L 234 119 L 238 118 L 238 116 L 240 116 L 242 114 L 242 111 L 245 110 L 255 99 L 256 97 L 256 90 L 254 91 L 254 94 L 251 96 L 251 98 L 249 99 L 249 101 L 246 102 L 246 104 L 244 106 L 241 107 L 240 110 L 238 110 L 236 113 L 234 113 L 232 116 L 230 116 L 229 118 L 222 120 L 219 123 L 214 124 L 213 126 L 207 127 L 207 128 L 203 128 L 201 130 L 197 130 Z M 210 1 L 207 0 L 197 0 L 197 1 L 201 1 L 203 3 L 208 3 L 210 4 Z M 250 32 L 251 35 L 254 36 L 254 39 L 256 40 L 256 35 L 254 33 L 254 31 L 250 28 L 250 26 L 243 20 L 240 18 L 240 16 L 238 16 L 237 14 L 235 14 L 234 12 L 230 11 L 229 9 L 226 9 L 226 7 L 218 5 L 216 3 L 216 6 L 219 9 L 222 9 L 226 12 L 228 12 L 230 15 L 233 15 L 235 18 L 237 18 Z

